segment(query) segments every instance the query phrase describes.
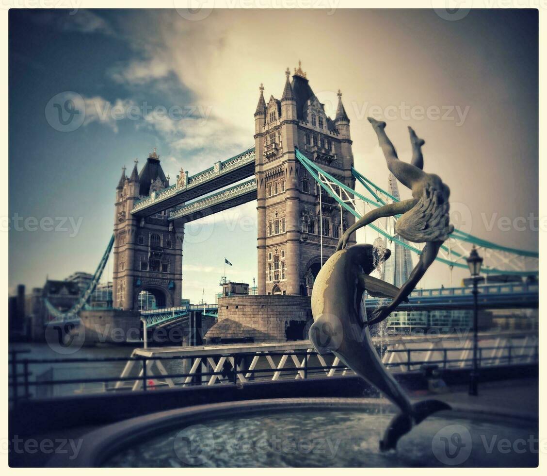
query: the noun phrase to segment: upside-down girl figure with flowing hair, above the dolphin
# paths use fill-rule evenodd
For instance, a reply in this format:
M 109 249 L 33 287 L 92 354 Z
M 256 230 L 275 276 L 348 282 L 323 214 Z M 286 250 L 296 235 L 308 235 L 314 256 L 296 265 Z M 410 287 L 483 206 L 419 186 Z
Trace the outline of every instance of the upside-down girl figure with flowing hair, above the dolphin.
M 369 325 L 381 322 L 397 308 L 399 303 L 406 301 L 416 284 L 426 273 L 429 266 L 437 257 L 440 246 L 454 231 L 449 224 L 449 196 L 450 189 L 438 175 L 427 174 L 423 169 L 422 146 L 425 144 L 409 126 L 410 142 L 412 144 L 412 160 L 408 164 L 401 162 L 397 157 L 397 151 L 386 134 L 386 123 L 368 118 L 372 124 L 378 142 L 386 158 L 387 168 L 393 175 L 410 188 L 412 197 L 397 203 L 389 203 L 383 207 L 369 211 L 359 221 L 348 228 L 340 238 L 336 251 L 346 247 L 351 234 L 359 228 L 369 225 L 373 221 L 387 216 L 403 214 L 395 222 L 395 233 L 415 243 L 426 243 L 417 265 L 412 269 L 409 279 L 401 286 L 393 301 L 386 306 L 375 309 Z

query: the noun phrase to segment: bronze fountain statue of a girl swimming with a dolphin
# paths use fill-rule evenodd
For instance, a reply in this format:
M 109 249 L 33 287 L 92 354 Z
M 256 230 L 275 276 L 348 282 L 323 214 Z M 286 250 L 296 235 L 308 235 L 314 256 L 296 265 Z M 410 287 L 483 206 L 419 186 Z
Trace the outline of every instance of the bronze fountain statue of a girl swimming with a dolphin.
M 409 127 L 412 142 L 412 163 L 400 162 L 393 144 L 385 133 L 385 122 L 369 118 L 378 136 L 380 146 L 393 175 L 412 190 L 414 198 L 391 203 L 364 215 L 344 233 L 336 253 L 324 263 L 317 274 L 311 296 L 313 324 L 310 340 L 317 352 L 334 353 L 357 375 L 378 388 L 400 409 L 380 441 L 380 449 L 394 449 L 399 438 L 412 426 L 420 423 L 435 411 L 450 409 L 439 400 L 425 400 L 411 404 L 408 396 L 382 364 L 370 339 L 369 326 L 385 319 L 400 302 L 407 299 L 420 278 L 431 265 L 441 244 L 453 231 L 449 225 L 449 188 L 440 177 L 426 174 L 423 168 L 421 147 L 424 141 Z M 369 276 L 379 259 L 386 260 L 369 244 L 357 244 L 346 248 L 351 234 L 380 217 L 403 214 L 395 225 L 399 236 L 426 242 L 418 264 L 407 282 L 398 289 L 392 284 Z M 388 297 L 393 301 L 375 309 L 367 319 L 362 307 L 363 292 L 374 297 Z

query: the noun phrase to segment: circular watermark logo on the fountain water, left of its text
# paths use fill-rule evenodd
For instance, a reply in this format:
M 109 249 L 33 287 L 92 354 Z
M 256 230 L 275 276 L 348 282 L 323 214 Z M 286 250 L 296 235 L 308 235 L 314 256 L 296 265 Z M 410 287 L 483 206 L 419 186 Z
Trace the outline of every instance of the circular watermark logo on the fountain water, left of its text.
M 183 463 L 190 466 L 201 466 L 213 455 L 213 432 L 205 425 L 184 428 L 174 438 L 173 449 Z

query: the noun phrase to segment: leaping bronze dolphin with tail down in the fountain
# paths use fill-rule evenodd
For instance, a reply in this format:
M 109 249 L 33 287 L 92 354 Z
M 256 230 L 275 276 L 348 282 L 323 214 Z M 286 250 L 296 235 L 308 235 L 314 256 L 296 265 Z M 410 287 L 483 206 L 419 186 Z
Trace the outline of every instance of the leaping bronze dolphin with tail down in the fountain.
M 383 259 L 391 252 L 386 250 Z M 450 406 L 439 400 L 411 404 L 404 390 L 382 364 L 370 339 L 369 324 L 361 312 L 365 290 L 374 297 L 392 298 L 399 288 L 369 276 L 379 259 L 370 244 L 350 246 L 330 256 L 317 274 L 311 295 L 313 324 L 310 340 L 320 354 L 334 353 L 357 375 L 380 390 L 400 409 L 380 441 L 380 450 L 395 449 L 412 426 Z

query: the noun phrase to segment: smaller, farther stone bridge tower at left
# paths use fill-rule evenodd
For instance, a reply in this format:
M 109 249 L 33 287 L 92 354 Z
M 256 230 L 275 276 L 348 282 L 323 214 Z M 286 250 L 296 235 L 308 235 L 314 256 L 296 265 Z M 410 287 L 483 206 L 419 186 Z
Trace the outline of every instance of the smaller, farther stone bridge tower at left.
M 140 198 L 169 186 L 155 149 L 140 172 L 137 162 L 129 177 L 124 167 L 116 188 L 113 306 L 138 311 L 142 291 L 154 296 L 157 307 L 179 306 L 184 228 L 167 222 L 168 210 L 146 218 L 131 215 Z

